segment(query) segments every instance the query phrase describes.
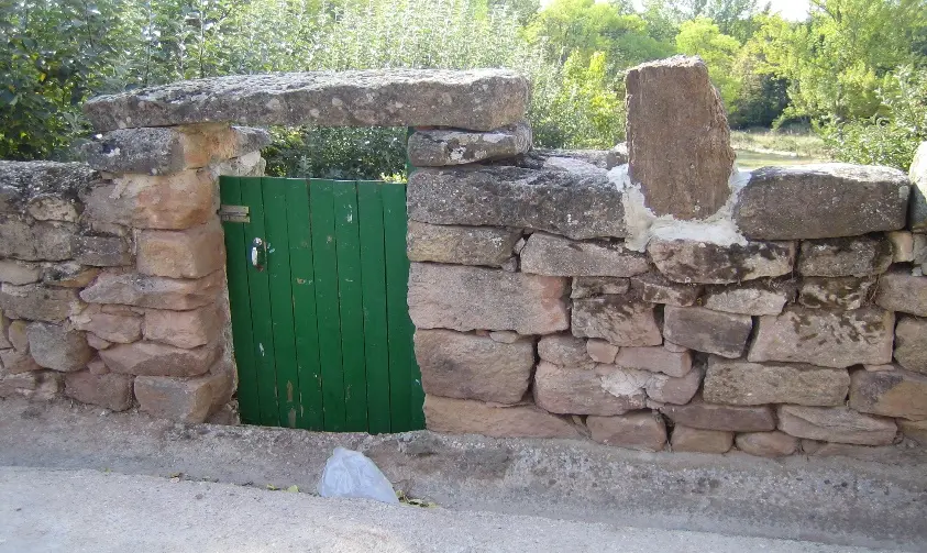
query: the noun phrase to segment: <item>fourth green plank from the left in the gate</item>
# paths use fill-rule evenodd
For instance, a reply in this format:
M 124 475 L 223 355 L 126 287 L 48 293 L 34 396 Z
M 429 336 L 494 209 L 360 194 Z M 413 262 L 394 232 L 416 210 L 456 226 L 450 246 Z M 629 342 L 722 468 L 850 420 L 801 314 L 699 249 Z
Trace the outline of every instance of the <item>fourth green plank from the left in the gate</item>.
M 300 428 L 323 430 L 322 374 L 319 366 L 319 334 L 316 317 L 316 276 L 312 267 L 312 234 L 309 225 L 309 181 L 286 188 L 289 264 L 293 280 L 293 311 L 296 317 L 296 360 L 299 372 Z

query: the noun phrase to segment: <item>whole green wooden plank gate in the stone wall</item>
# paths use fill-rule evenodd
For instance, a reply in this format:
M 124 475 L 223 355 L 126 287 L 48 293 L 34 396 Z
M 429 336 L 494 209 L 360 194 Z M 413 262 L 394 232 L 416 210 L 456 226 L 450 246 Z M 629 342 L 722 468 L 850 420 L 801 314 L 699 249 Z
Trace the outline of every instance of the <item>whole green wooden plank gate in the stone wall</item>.
M 405 185 L 222 177 L 220 190 L 242 421 L 424 428 Z

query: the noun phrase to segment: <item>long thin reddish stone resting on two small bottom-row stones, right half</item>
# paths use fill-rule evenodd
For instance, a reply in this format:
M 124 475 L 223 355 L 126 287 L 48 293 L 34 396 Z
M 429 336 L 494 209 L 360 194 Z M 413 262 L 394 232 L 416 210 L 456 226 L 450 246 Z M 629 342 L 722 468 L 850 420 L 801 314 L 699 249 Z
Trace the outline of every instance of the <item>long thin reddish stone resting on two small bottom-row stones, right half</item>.
M 674 423 L 704 430 L 763 432 L 775 430 L 775 416 L 769 406 L 744 407 L 706 403 L 695 398 L 686 405 L 667 405 L 660 412 Z

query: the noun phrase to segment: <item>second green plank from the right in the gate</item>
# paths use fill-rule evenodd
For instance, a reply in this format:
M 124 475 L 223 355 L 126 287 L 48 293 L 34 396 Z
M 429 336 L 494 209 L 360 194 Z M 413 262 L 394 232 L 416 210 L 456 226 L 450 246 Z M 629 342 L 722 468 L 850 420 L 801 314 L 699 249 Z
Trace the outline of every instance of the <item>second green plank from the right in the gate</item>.
M 364 354 L 367 362 L 367 423 L 372 434 L 389 432 L 389 345 L 386 322 L 386 257 L 382 183 L 357 183 L 361 272 L 364 286 Z

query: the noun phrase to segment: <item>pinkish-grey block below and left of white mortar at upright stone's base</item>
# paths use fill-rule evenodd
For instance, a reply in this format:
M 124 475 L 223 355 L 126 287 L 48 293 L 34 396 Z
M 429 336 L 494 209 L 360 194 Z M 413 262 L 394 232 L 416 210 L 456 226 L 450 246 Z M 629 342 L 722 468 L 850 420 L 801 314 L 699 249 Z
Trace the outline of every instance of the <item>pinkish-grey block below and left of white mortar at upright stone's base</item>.
M 536 232 L 521 251 L 521 270 L 550 276 L 629 277 L 645 273 L 647 256 L 620 243 L 576 242 Z

